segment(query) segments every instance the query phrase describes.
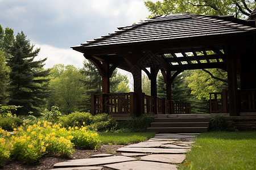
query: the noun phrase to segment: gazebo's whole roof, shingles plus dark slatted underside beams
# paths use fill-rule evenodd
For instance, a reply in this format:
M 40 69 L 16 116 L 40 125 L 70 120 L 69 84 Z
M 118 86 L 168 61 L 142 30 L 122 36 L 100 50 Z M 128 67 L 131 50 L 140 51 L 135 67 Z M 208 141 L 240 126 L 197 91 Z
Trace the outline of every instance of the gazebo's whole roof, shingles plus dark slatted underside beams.
M 169 70 L 225 69 L 225 45 L 235 43 L 246 48 L 254 43 L 252 35 L 256 32 L 251 20 L 187 13 L 156 16 L 118 29 L 72 48 L 90 59 L 113 65 L 118 61 L 118 67 L 127 71 L 129 66 L 122 55 L 134 52 L 151 52 L 166 62 L 163 67 Z

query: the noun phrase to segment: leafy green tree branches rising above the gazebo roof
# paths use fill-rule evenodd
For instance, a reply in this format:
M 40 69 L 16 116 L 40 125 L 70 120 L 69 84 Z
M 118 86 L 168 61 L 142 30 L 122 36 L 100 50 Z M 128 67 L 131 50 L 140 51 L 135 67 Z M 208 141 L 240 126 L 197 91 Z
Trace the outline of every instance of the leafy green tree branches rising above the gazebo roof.
M 235 15 L 236 18 L 249 16 L 256 2 L 244 0 L 204 1 L 204 0 L 163 0 L 145 1 L 144 5 L 151 12 L 149 18 L 157 15 L 189 12 L 199 15 Z

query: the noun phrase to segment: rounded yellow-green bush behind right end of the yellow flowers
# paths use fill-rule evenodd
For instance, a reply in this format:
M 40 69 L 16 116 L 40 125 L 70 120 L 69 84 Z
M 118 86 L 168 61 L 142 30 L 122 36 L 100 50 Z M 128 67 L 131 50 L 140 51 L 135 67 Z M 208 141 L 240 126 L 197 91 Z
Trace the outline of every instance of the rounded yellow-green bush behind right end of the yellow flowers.
M 92 115 L 88 112 L 73 112 L 71 114 L 65 115 L 59 118 L 59 122 L 65 128 L 69 126 L 79 126 L 90 125 L 92 122 Z

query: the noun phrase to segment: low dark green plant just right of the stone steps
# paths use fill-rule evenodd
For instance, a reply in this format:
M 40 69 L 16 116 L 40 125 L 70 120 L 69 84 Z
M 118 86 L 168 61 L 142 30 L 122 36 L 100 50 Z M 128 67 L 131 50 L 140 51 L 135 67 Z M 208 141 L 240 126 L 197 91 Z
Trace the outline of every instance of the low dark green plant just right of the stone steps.
M 213 131 L 234 131 L 233 122 L 228 118 L 216 115 L 210 118 L 210 130 Z

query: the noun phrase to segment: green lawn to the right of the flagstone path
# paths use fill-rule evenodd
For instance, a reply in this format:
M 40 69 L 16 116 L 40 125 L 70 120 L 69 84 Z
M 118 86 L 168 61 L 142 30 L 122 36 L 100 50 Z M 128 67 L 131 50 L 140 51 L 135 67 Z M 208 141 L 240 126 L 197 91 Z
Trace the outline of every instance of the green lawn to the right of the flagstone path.
M 179 169 L 255 169 L 256 131 L 211 132 L 196 138 Z

